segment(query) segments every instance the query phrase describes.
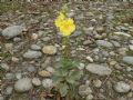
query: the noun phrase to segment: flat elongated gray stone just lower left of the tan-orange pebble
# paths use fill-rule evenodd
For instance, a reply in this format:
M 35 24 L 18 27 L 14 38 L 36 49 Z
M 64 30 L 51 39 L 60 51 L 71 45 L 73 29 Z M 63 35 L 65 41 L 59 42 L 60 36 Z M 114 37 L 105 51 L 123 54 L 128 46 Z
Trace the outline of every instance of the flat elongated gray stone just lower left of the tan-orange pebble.
M 28 50 L 28 51 L 23 54 L 23 58 L 34 59 L 34 58 L 40 58 L 41 56 L 42 56 L 42 53 L 41 53 L 40 51 Z

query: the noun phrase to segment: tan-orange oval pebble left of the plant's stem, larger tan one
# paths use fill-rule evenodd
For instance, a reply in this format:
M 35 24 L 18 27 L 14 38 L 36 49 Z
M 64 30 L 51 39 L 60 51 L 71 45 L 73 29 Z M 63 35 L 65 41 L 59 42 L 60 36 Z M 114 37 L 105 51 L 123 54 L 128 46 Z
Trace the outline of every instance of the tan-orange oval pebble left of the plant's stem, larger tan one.
M 55 54 L 58 51 L 57 47 L 54 46 L 44 46 L 42 48 L 42 52 L 45 54 Z

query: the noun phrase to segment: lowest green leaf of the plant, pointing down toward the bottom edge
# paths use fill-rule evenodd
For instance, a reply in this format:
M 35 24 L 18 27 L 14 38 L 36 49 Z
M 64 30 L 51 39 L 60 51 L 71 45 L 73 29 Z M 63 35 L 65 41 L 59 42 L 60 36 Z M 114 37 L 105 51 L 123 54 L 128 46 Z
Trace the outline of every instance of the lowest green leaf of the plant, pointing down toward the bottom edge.
M 61 97 L 65 97 L 68 93 L 68 84 L 66 83 L 60 83 L 59 91 L 61 93 Z

